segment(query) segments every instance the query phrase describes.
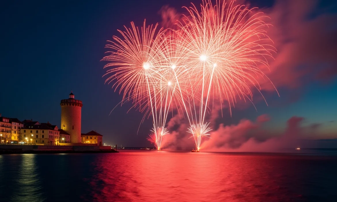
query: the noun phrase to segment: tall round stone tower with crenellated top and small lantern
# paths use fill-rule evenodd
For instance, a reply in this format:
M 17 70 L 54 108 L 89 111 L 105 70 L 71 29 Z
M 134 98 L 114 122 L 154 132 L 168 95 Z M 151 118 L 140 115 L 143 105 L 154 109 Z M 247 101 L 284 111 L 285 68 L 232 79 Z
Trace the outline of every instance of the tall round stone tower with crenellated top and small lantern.
M 61 100 L 61 129 L 70 134 L 70 143 L 82 143 L 81 140 L 81 111 L 82 101 L 75 100 L 74 94 Z

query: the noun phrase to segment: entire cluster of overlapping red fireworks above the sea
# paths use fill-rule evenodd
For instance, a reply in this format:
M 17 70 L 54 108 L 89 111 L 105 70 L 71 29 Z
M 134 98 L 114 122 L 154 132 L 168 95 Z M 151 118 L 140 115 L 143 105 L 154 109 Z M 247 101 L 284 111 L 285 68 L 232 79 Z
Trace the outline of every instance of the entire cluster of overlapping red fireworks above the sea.
M 141 29 L 132 22 L 131 28 L 118 30 L 122 37 L 113 36 L 106 45 L 112 51 L 103 58 L 111 61 L 104 76 L 123 95 L 121 103 L 131 101 L 144 112 L 141 123 L 152 117 L 148 140 L 157 150 L 169 134 L 168 115 L 183 115 L 198 151 L 211 135 L 207 120 L 214 105 L 222 110 L 226 103 L 232 115 L 238 100 L 252 102 L 252 89 L 261 93 L 259 80 L 269 81 L 262 70 L 275 52 L 265 31 L 268 17 L 257 8 L 227 0 L 184 8 L 188 15 L 176 29 L 157 29 L 158 24 L 144 21 Z

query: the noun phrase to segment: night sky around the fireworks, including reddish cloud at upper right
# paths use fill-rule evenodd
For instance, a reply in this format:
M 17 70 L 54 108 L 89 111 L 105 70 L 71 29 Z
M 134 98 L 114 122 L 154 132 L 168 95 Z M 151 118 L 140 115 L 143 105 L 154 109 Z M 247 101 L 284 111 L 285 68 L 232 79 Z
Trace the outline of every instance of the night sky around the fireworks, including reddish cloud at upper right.
M 131 21 L 142 26 L 161 23 L 165 5 L 183 13 L 191 0 L 126 1 L 7 1 L 1 6 L 0 113 L 19 120 L 60 126 L 60 100 L 72 90 L 83 101 L 82 132 L 96 130 L 103 143 L 151 146 L 146 140 L 151 119 L 129 104 L 116 107 L 121 96 L 104 84 L 100 61 L 104 45 Z M 193 0 L 199 4 L 201 0 Z M 226 109 L 217 124 L 236 125 L 268 115 L 264 129 L 282 133 L 287 121 L 303 118 L 301 127 L 315 129 L 308 138 L 337 138 L 337 4 L 331 1 L 251 0 L 274 25 L 270 37 L 278 49 L 270 79 L 279 91 L 263 92 L 268 105 Z M 296 19 L 297 18 L 297 19 Z M 276 31 L 277 30 L 277 33 Z M 120 35 L 118 35 L 120 36 Z M 274 37 L 273 37 L 274 36 Z M 258 97 L 258 95 L 257 95 Z M 260 101 L 261 100 L 261 101 Z M 191 140 L 192 141 L 192 140 Z

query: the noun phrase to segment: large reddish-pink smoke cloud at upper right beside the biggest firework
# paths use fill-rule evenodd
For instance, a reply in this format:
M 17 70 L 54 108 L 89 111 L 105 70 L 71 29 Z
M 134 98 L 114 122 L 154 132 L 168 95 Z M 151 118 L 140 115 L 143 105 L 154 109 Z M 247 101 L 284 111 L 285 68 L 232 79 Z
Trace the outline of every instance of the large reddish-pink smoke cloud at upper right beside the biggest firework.
M 278 50 L 268 74 L 277 87 L 294 89 L 337 75 L 337 14 L 319 12 L 315 0 L 278 0 L 264 11 Z

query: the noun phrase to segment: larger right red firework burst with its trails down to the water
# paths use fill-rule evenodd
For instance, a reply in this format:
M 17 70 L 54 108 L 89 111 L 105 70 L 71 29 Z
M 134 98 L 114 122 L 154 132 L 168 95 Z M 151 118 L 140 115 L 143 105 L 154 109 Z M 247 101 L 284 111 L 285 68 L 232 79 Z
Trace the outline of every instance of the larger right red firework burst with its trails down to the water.
M 274 51 L 263 29 L 267 26 L 265 16 L 234 3 L 219 0 L 213 5 L 210 0 L 203 0 L 200 10 L 192 4 L 186 7 L 189 16 L 177 24 L 186 73 L 193 78 L 193 96 L 182 101 L 197 150 L 202 137 L 208 137 L 211 130 L 205 122 L 210 100 L 228 102 L 231 113 L 237 98 L 251 101 L 250 86 L 260 91 L 255 77 L 266 77 L 259 67 L 268 67 L 267 57 L 272 57 Z

